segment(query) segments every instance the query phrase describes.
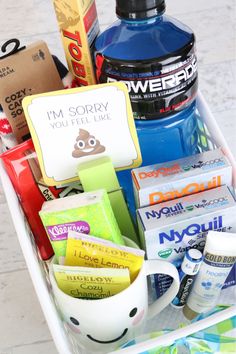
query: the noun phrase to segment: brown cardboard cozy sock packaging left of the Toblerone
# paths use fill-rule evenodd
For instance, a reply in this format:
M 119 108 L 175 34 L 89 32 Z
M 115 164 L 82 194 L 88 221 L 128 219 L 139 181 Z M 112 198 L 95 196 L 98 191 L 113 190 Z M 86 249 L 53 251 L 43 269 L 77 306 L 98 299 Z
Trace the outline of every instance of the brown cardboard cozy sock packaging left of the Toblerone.
M 61 78 L 43 41 L 0 60 L 0 104 L 18 143 L 30 137 L 21 104 L 23 98 L 61 89 Z

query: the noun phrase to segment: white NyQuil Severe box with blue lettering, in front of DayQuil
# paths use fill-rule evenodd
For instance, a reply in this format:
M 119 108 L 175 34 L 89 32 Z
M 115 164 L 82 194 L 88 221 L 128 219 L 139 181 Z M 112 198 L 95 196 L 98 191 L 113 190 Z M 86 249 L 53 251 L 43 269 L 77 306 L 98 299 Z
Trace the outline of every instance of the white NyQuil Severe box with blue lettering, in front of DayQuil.
M 137 210 L 148 259 L 178 264 L 189 248 L 203 250 L 209 230 L 236 232 L 236 202 L 227 186 Z

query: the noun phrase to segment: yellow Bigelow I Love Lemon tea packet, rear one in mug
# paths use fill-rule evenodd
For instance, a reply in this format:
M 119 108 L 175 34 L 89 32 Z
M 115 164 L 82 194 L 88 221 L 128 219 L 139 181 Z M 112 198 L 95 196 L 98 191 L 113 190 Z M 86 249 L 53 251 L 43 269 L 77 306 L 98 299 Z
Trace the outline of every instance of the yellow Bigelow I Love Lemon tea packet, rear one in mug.
M 144 251 L 70 231 L 65 265 L 95 268 L 128 268 L 133 281 L 144 260 Z

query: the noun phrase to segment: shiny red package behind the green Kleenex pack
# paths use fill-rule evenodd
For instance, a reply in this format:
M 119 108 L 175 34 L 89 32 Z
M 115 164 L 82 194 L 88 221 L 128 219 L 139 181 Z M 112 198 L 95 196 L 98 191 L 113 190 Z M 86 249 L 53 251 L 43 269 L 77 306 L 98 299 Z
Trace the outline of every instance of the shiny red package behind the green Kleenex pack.
M 20 200 L 39 253 L 43 260 L 47 260 L 53 256 L 53 249 L 38 214 L 42 204 L 45 200 L 80 193 L 81 185 L 74 183 L 63 188 L 46 186 L 31 139 L 8 150 L 0 157 Z

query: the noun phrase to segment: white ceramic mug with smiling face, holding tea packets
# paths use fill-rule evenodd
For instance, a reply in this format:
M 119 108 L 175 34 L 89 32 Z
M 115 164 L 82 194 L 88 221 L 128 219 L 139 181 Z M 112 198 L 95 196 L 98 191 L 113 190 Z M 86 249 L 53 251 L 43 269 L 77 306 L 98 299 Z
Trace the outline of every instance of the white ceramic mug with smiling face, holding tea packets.
M 167 292 L 148 306 L 147 276 L 167 274 L 173 283 Z M 144 261 L 132 284 L 111 297 L 86 300 L 62 292 L 50 266 L 49 277 L 55 301 L 67 329 L 78 343 L 91 352 L 111 351 L 135 336 L 145 319 L 162 311 L 176 296 L 179 276 L 176 268 L 162 260 Z

